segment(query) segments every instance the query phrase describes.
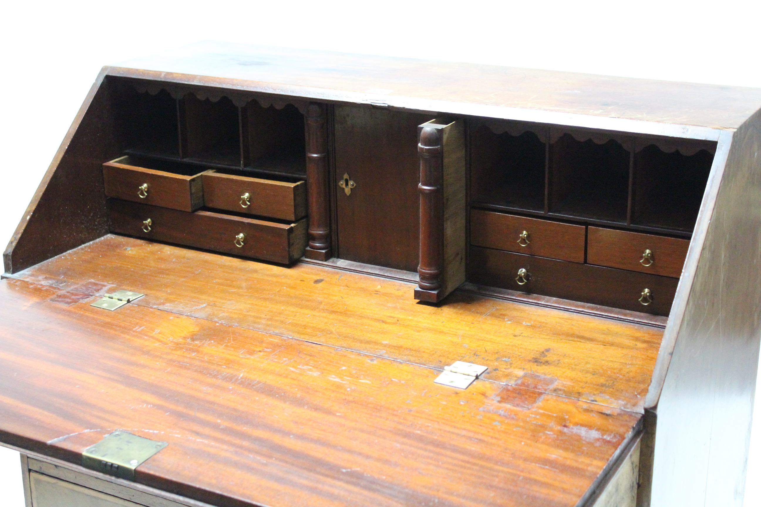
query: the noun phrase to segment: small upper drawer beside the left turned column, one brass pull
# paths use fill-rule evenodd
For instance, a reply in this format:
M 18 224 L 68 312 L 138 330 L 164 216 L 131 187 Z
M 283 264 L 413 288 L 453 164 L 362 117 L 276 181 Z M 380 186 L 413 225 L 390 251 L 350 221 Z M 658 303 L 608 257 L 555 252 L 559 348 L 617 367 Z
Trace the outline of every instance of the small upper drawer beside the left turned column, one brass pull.
M 203 200 L 209 208 L 298 220 L 307 214 L 307 185 L 209 172 Z

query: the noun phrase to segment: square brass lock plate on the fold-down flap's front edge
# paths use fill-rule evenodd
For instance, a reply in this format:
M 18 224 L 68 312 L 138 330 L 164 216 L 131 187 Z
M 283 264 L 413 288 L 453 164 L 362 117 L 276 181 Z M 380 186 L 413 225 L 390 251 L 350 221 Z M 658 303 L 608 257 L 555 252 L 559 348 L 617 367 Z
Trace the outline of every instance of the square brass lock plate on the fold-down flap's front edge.
M 169 445 L 117 429 L 84 449 L 82 466 L 102 474 L 135 480 L 135 468 Z

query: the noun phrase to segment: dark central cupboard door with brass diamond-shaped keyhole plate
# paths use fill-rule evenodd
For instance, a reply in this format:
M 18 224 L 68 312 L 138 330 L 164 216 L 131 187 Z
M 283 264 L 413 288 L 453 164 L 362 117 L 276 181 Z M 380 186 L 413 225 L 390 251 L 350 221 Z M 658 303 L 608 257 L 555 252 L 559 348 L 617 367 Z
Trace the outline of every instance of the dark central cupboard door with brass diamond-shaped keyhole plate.
M 417 271 L 418 125 L 432 116 L 336 106 L 338 257 Z M 349 176 L 349 195 L 339 182 Z

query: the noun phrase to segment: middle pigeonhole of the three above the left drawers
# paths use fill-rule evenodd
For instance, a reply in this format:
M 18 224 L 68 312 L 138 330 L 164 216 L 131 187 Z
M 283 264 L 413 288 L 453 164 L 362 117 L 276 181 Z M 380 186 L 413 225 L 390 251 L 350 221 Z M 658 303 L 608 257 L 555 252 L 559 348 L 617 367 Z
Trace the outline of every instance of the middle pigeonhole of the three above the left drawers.
M 183 158 L 211 166 L 240 168 L 240 110 L 228 97 L 216 102 L 187 93 L 180 103 L 184 118 Z

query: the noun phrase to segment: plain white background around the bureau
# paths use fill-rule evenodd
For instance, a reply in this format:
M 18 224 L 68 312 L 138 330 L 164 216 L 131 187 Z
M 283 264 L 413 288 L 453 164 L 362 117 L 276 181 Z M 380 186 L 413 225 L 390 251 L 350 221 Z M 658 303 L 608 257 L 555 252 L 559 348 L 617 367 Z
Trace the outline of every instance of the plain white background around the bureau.
M 72 0 L 9 2 L 0 19 L 2 246 L 100 67 L 197 40 L 761 87 L 757 0 Z M 746 507 L 761 505 L 759 405 Z M 0 507 L 22 505 L 18 453 L 0 448 Z

